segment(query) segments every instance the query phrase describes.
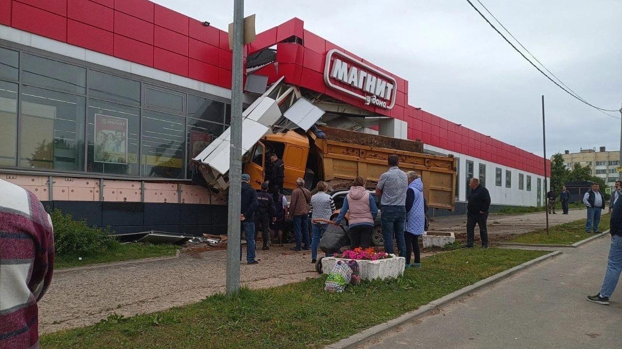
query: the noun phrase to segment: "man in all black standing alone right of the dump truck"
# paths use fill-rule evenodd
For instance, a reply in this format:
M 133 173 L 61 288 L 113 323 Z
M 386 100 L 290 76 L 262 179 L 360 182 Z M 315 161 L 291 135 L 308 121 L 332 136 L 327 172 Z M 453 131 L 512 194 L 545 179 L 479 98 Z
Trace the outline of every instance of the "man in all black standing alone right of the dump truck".
M 466 247 L 471 248 L 475 243 L 475 224 L 477 224 L 480 227 L 481 247 L 488 248 L 486 220 L 490 208 L 490 194 L 477 178 L 471 178 L 468 186 L 471 188 L 471 194 L 468 196 L 466 206 Z

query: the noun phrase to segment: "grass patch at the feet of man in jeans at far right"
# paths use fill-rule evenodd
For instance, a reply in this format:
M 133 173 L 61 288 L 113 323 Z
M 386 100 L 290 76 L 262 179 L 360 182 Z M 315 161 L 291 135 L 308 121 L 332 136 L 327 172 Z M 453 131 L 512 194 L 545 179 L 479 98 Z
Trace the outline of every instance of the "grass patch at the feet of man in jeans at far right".
M 601 232 L 609 229 L 610 214 L 603 214 L 600 217 L 600 225 L 598 229 Z M 561 225 L 549 227 L 549 233 L 546 229 L 534 230 L 526 234 L 518 235 L 511 238 L 509 242 L 518 243 L 544 243 L 554 245 L 572 245 L 575 242 L 585 240 L 593 236 L 592 233 L 585 232 L 586 219 L 574 220 Z

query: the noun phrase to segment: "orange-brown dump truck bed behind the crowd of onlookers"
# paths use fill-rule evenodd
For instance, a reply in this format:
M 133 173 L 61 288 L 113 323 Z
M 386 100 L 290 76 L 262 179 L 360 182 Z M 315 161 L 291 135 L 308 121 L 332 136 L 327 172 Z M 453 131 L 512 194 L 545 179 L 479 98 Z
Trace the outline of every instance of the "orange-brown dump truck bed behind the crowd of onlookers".
M 324 181 L 343 183 L 363 176 L 369 184 L 387 171 L 389 155 L 399 156 L 399 167 L 420 174 L 430 207 L 453 211 L 456 166 L 453 156 L 422 153 L 419 141 L 321 127 L 325 138 L 312 137 L 317 153 L 317 175 Z M 345 142 L 344 142 L 345 141 Z

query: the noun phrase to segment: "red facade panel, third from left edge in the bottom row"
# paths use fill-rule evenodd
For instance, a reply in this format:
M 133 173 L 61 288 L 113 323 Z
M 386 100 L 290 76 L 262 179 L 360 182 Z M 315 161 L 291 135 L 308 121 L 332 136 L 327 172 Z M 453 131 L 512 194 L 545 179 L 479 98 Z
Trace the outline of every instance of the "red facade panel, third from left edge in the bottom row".
M 67 43 L 106 55 L 114 53 L 113 33 L 72 19 L 67 22 Z

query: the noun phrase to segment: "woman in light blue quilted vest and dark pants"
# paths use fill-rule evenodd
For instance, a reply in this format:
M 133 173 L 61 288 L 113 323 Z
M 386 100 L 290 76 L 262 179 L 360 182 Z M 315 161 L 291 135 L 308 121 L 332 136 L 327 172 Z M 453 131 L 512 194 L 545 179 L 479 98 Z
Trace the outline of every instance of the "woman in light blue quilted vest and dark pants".
M 421 268 L 421 251 L 419 237 L 424 235 L 424 183 L 419 174 L 409 171 L 408 189 L 406 189 L 406 268 L 415 266 Z M 415 261 L 411 264 L 411 253 L 415 253 Z

